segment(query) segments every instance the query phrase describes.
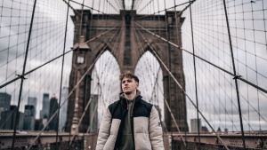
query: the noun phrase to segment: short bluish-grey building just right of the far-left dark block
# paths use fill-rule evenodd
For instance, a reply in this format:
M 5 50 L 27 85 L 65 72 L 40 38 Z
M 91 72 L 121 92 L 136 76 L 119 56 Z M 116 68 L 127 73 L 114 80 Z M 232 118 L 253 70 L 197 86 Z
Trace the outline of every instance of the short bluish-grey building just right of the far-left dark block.
M 32 105 L 26 105 L 24 109 L 23 130 L 35 130 L 36 109 Z

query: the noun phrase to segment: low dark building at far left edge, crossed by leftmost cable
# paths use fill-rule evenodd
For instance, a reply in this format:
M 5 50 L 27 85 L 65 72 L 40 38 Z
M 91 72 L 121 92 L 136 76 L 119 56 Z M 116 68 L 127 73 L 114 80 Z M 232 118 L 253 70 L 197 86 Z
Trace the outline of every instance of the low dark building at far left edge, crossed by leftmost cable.
M 13 126 L 15 124 L 15 109 L 16 106 L 11 106 L 10 110 L 4 111 L 1 113 L 1 119 L 0 119 L 0 127 L 1 130 L 13 130 Z M 23 129 L 23 120 L 24 120 L 24 114 L 19 112 L 18 114 L 19 118 L 19 124 L 17 126 L 17 130 Z

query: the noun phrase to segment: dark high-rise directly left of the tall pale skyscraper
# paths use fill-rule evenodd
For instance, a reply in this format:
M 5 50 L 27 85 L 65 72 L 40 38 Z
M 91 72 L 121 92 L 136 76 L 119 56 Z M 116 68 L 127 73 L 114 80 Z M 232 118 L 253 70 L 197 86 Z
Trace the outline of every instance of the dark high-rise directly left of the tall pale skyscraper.
M 49 104 L 49 117 L 48 120 L 50 120 L 53 116 L 53 114 L 57 111 L 58 109 L 58 99 L 53 97 L 50 99 L 50 104 Z M 57 115 L 55 115 L 52 119 L 52 121 L 48 124 L 49 130 L 57 130 Z

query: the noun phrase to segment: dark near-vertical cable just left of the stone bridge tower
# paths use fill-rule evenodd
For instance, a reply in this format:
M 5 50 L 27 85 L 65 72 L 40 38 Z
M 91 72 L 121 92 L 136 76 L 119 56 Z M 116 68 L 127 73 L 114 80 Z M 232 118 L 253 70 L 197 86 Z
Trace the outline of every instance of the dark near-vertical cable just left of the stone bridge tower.
M 68 1 L 68 6 L 67 6 L 67 17 L 66 17 L 66 25 L 65 25 L 65 36 L 64 36 L 64 45 L 63 45 L 63 54 L 65 53 L 65 48 L 66 48 L 66 39 L 67 39 L 67 31 L 68 31 L 68 20 L 69 20 L 69 1 Z M 63 69 L 64 69 L 64 60 L 65 60 L 65 55 L 62 57 L 62 66 L 61 66 L 61 89 L 60 89 L 60 102 L 58 104 L 58 115 L 57 115 L 57 133 L 56 133 L 56 149 L 58 149 L 58 137 L 59 137 L 59 124 L 60 124 L 60 108 L 61 108 L 61 92 L 62 92 L 62 79 L 63 79 Z

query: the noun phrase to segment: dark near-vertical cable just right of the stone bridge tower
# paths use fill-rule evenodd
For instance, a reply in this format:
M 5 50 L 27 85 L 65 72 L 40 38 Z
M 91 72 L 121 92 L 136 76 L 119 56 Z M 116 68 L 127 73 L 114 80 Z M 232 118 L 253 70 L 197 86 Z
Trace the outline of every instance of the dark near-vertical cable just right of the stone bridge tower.
M 196 58 L 195 58 L 195 46 L 194 46 L 194 33 L 193 33 L 191 3 L 190 3 L 190 25 L 191 25 L 191 37 L 192 37 L 192 49 L 193 49 L 193 62 L 194 62 L 195 88 L 196 88 L 196 102 L 197 102 L 197 109 L 198 109 L 198 83 L 197 83 L 197 71 L 196 71 Z M 197 111 L 197 119 L 198 119 L 197 122 L 198 122 L 198 149 L 199 149 L 199 145 L 200 145 L 199 131 L 200 131 L 200 129 L 199 129 L 198 111 Z

